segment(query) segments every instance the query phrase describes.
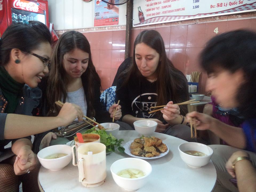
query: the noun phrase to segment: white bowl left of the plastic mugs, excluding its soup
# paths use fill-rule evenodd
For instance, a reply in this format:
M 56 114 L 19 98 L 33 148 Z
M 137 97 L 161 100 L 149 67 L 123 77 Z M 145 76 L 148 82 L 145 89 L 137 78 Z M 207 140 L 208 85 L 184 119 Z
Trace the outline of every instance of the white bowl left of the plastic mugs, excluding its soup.
M 56 159 L 45 159 L 45 157 L 54 153 L 66 153 L 67 155 L 64 157 L 56 158 Z M 65 166 L 67 166 L 71 161 L 72 159 L 71 146 L 52 145 L 49 147 L 45 147 L 38 152 L 37 157 L 43 167 L 45 167 L 46 169 L 50 169 L 52 171 L 58 171 L 63 169 Z

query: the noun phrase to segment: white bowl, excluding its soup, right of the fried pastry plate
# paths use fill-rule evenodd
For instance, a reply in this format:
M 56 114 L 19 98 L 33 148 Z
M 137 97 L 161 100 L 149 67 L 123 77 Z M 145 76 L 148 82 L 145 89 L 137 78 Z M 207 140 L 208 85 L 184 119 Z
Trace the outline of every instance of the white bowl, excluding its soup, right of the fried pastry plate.
M 179 155 L 181 159 L 190 167 L 199 168 L 209 163 L 211 156 L 213 155 L 213 149 L 211 147 L 195 142 L 182 143 L 178 146 Z M 194 156 L 184 153 L 185 151 L 200 151 L 205 153 L 206 156 Z

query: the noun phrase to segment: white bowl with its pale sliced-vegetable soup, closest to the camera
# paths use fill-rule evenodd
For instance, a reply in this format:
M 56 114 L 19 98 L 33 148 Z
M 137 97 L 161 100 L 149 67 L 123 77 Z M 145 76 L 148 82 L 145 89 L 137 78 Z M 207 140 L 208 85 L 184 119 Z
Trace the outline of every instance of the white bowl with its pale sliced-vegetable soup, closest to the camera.
M 110 171 L 119 187 L 127 191 L 135 191 L 146 185 L 152 166 L 143 159 L 124 158 L 112 163 Z

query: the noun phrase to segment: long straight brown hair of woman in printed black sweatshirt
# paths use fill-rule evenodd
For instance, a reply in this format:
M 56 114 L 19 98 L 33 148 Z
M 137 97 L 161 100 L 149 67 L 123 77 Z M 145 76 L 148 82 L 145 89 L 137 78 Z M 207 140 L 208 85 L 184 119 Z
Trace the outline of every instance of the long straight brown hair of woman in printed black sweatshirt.
M 170 100 L 173 101 L 173 103 L 187 101 L 189 99 L 187 79 L 167 58 L 163 39 L 155 30 L 142 31 L 135 39 L 133 47 L 133 65 L 121 74 L 122 77 L 125 77 L 122 86 L 125 86 L 133 75 L 145 78 L 141 75 L 135 62 L 135 47 L 139 43 L 145 43 L 147 46 L 156 50 L 160 55 L 156 70 L 157 105 L 166 105 Z M 187 107 L 180 106 L 180 111 L 182 115 L 185 115 L 187 113 Z M 160 113 L 158 113 L 158 115 L 159 114 Z

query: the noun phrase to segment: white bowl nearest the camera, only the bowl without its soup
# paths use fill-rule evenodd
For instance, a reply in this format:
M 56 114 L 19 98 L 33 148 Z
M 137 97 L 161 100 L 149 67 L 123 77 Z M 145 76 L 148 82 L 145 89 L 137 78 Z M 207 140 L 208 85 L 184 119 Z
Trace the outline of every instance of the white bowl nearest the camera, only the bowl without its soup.
M 133 179 L 118 176 L 117 174 L 119 173 L 119 171 L 122 171 L 124 169 L 139 169 L 141 171 L 144 171 L 146 175 L 144 175 L 143 177 L 133 178 Z M 146 182 L 149 179 L 148 176 L 152 172 L 152 167 L 150 163 L 148 163 L 143 159 L 124 158 L 124 159 L 119 159 L 114 163 L 112 163 L 110 167 L 110 171 L 115 183 L 119 187 L 122 187 L 127 191 L 135 191 L 146 184 Z

